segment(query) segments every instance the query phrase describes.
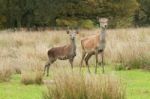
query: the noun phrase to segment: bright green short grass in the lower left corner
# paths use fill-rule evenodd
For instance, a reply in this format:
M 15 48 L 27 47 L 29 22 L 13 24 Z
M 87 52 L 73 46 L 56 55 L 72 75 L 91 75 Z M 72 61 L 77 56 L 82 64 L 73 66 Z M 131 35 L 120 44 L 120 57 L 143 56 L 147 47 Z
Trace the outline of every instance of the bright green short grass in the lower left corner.
M 20 79 L 20 75 L 13 75 L 10 82 L 0 83 L 0 99 L 41 99 L 44 86 L 26 86 Z

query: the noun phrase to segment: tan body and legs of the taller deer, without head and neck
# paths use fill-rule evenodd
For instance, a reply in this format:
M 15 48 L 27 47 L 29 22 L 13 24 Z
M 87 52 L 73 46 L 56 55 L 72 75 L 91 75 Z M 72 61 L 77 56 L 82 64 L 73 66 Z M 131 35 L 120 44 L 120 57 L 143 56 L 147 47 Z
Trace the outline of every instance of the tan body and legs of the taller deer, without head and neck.
M 88 61 L 92 55 L 95 55 L 96 56 L 95 72 L 97 72 L 98 53 L 103 52 L 103 50 L 98 49 L 100 46 L 100 35 L 97 34 L 97 35 L 92 35 L 92 36 L 83 38 L 81 40 L 81 46 L 82 46 L 81 67 L 82 67 L 83 60 L 85 60 L 86 66 L 88 67 L 88 71 L 90 72 Z

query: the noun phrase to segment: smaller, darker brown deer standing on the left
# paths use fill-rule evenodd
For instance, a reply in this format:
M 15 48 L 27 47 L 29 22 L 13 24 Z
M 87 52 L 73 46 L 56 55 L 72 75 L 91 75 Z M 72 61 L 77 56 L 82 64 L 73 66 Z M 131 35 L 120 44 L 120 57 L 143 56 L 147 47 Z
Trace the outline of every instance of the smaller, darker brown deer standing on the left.
M 53 47 L 48 50 L 47 55 L 48 55 L 49 60 L 45 64 L 44 75 L 47 70 L 47 76 L 49 76 L 49 68 L 57 59 L 58 60 L 69 60 L 71 67 L 73 69 L 73 61 L 76 56 L 75 37 L 76 37 L 76 34 L 79 33 L 79 31 L 68 29 L 66 32 L 70 37 L 70 44 L 67 44 L 64 46 L 59 46 L 59 47 Z

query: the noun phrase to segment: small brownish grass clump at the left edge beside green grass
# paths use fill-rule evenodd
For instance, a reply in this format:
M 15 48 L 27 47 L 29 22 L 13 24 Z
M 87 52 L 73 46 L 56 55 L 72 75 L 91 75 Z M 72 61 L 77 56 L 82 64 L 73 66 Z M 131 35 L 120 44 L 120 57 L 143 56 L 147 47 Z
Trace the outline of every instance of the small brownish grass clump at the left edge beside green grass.
M 9 81 L 11 74 L 12 72 L 10 69 L 1 69 L 0 70 L 0 82 Z

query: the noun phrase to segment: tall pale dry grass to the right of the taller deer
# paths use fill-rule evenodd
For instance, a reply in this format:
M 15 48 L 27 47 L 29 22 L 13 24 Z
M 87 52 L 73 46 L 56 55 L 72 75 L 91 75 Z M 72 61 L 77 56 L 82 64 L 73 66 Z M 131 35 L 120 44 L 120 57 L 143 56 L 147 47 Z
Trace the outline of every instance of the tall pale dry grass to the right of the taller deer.
M 128 68 L 150 67 L 148 28 L 110 30 L 107 36 L 107 60 Z

